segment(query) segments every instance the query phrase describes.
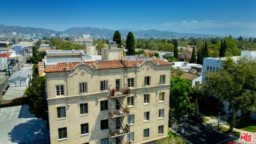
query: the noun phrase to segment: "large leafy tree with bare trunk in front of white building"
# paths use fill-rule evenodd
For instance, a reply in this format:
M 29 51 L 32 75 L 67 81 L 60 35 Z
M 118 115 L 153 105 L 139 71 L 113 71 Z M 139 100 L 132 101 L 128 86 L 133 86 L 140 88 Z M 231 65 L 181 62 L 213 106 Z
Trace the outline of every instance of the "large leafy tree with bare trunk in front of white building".
M 222 61 L 222 68 L 216 73 L 206 72 L 204 90 L 229 102 L 232 120 L 228 132 L 233 132 L 236 113 L 244 113 L 256 108 L 256 62 L 241 58 L 234 61 L 230 57 Z

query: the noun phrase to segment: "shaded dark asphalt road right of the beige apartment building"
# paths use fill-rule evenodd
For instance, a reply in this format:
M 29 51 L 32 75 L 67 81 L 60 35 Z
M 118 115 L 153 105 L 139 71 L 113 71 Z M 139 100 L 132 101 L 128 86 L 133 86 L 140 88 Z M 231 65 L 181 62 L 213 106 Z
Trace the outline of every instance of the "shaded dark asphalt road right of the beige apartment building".
M 185 118 L 183 123 L 178 125 L 178 133 L 181 133 L 181 127 L 185 130 L 183 138 L 191 143 L 228 143 L 238 139 L 237 137 L 230 136 L 226 133 L 215 130 L 213 127 L 206 124 L 196 124 L 193 121 Z M 172 127 L 175 130 L 175 127 Z

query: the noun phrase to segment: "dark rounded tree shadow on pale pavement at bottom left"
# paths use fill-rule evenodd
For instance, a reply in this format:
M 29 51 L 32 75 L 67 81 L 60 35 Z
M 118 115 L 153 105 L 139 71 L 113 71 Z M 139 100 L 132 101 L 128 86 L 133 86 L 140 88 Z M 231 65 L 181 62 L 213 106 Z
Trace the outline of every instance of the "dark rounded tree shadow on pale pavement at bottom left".
M 48 143 L 50 138 L 46 129 L 46 122 L 38 118 L 14 126 L 8 135 L 9 140 L 15 143 Z

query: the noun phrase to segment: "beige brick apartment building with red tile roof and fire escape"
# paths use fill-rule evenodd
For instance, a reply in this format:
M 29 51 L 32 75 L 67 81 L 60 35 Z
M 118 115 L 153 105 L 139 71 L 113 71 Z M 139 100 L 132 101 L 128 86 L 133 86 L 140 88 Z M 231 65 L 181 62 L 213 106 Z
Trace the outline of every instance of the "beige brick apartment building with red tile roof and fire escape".
M 51 143 L 146 143 L 166 137 L 170 65 L 142 59 L 46 68 Z

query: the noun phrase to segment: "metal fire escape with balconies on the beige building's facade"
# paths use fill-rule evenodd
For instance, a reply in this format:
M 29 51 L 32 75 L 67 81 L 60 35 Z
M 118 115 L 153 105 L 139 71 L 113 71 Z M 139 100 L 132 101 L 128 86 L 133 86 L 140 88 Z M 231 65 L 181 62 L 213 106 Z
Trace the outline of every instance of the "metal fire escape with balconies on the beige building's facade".
M 109 90 L 108 97 L 112 103 L 116 103 L 115 110 L 109 109 L 109 117 L 111 118 L 110 121 L 115 123 L 115 127 L 110 127 L 109 135 L 110 138 L 116 140 L 116 144 L 125 144 L 129 143 L 128 141 L 123 141 L 124 135 L 130 134 L 130 122 L 128 121 L 127 116 L 130 115 L 130 109 L 124 106 L 122 100 L 125 97 L 130 95 L 130 89 L 127 86 L 127 64 L 124 60 L 120 60 L 124 66 L 124 74 L 120 79 L 120 89 Z M 126 60 L 127 61 L 127 60 Z M 128 124 L 124 124 L 124 120 L 127 118 Z

